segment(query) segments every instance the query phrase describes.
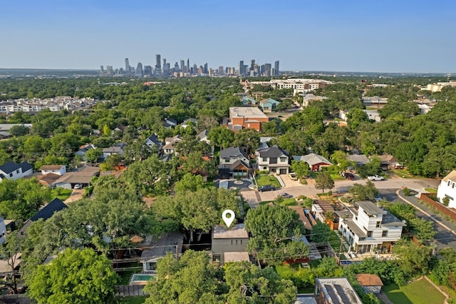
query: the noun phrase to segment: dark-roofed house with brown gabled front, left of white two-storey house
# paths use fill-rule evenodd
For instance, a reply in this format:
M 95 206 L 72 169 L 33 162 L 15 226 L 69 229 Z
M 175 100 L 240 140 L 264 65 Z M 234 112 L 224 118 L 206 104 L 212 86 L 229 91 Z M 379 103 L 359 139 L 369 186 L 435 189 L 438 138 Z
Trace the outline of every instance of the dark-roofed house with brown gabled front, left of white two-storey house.
M 249 156 L 239 147 L 230 147 L 219 153 L 219 178 L 249 178 L 251 166 Z

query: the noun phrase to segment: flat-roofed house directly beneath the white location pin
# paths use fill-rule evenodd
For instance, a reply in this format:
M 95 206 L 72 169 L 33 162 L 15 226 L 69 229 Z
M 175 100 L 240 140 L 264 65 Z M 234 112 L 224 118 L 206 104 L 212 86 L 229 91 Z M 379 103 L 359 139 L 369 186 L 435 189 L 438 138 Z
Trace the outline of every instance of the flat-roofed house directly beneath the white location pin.
M 212 230 L 212 261 L 224 265 L 249 260 L 247 243 L 249 234 L 244 229 L 244 224 L 233 225 L 231 228 L 215 226 Z

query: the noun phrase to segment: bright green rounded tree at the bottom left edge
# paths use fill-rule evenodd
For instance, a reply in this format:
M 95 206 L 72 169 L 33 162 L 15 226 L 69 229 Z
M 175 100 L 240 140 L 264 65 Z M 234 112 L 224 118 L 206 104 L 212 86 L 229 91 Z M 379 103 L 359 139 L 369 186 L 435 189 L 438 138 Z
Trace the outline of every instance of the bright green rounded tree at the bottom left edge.
M 41 303 L 113 303 L 119 280 L 111 261 L 92 249 L 66 249 L 48 265 L 39 265 L 28 290 Z

